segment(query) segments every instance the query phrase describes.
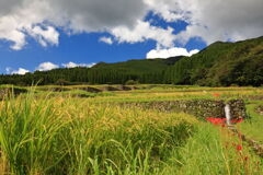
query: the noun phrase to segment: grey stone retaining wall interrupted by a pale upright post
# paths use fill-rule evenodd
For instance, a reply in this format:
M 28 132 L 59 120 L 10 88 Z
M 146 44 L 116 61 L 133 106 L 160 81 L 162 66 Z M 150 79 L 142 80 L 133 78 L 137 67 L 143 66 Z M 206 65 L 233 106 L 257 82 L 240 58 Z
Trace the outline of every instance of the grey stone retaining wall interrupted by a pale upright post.
M 232 119 L 247 117 L 245 104 L 242 100 L 232 100 L 228 104 L 231 108 Z M 122 103 L 124 106 L 138 106 L 148 109 L 157 109 L 160 112 L 183 112 L 197 117 L 216 117 L 226 118 L 225 102 L 217 100 L 178 100 L 164 102 L 127 102 Z

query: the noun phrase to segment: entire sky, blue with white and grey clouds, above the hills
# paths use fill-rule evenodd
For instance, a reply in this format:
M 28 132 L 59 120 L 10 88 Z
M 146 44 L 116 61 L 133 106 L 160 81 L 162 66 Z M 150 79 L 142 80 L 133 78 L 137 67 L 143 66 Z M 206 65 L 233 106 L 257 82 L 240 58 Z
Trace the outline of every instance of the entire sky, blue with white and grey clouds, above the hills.
M 0 1 L 0 73 L 191 56 L 262 36 L 262 0 Z

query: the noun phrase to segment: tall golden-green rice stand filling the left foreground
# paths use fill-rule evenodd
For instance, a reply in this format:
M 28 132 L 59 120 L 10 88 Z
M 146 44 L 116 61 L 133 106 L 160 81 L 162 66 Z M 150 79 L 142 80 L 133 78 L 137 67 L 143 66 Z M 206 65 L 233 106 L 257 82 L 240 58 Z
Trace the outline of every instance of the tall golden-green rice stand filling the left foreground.
M 7 174 L 152 174 L 196 122 L 185 114 L 33 94 L 2 101 L 0 116 Z

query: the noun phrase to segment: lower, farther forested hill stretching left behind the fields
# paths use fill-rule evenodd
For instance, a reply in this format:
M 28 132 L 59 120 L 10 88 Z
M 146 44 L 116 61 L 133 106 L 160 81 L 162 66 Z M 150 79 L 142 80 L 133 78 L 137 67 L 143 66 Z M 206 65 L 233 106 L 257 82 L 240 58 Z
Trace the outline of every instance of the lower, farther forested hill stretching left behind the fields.
M 169 59 L 141 59 L 125 62 L 99 62 L 92 68 L 54 69 L 35 71 L 25 75 L 0 75 L 0 84 L 124 84 L 128 80 L 139 83 L 163 83 L 169 67 L 184 57 Z

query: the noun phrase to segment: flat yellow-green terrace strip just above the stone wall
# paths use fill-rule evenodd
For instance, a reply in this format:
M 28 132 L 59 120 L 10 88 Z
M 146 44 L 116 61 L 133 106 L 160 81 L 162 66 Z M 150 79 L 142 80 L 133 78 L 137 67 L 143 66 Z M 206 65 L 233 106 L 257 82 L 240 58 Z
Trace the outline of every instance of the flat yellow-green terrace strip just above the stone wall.
M 173 101 L 173 100 L 228 100 L 240 98 L 248 95 L 261 95 L 262 89 L 254 88 L 175 88 L 158 90 L 134 90 L 113 92 L 113 97 L 101 97 L 92 102 L 152 102 L 152 101 Z M 215 97 L 214 94 L 219 94 Z

